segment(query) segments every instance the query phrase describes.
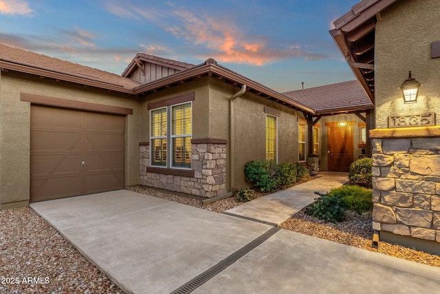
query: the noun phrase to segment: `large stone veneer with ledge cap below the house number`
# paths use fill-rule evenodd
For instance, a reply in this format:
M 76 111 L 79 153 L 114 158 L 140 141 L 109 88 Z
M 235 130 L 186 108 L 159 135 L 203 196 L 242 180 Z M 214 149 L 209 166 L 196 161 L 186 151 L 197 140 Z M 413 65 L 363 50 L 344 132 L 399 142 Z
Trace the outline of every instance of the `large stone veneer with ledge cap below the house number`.
M 440 242 L 440 128 L 374 129 L 370 137 L 373 229 Z

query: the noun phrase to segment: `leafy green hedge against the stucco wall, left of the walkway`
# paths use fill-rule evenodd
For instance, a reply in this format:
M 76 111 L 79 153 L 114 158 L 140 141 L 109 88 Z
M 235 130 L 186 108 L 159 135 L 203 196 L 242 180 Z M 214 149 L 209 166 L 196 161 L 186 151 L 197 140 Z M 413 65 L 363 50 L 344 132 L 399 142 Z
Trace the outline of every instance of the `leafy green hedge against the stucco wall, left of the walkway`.
M 261 191 L 274 191 L 294 185 L 309 176 L 309 170 L 298 162 L 277 164 L 268 160 L 254 160 L 245 165 L 245 175 Z

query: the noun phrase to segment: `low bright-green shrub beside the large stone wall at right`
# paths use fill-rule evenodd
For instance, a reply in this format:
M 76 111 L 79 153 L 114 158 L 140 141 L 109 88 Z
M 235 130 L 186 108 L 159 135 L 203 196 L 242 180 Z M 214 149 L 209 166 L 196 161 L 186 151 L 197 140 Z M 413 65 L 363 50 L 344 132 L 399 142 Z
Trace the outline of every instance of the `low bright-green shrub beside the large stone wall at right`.
M 330 196 L 341 197 L 344 199 L 344 207 L 358 213 L 371 211 L 373 209 L 373 194 L 371 189 L 360 186 L 344 185 L 331 189 Z

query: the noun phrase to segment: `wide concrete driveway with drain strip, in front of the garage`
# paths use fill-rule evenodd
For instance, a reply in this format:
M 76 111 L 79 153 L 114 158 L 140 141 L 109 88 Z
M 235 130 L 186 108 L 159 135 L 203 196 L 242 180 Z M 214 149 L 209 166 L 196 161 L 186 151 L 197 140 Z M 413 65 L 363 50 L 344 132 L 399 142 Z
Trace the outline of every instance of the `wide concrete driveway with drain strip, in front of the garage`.
M 31 207 L 126 293 L 438 293 L 440 288 L 439 268 L 132 191 Z

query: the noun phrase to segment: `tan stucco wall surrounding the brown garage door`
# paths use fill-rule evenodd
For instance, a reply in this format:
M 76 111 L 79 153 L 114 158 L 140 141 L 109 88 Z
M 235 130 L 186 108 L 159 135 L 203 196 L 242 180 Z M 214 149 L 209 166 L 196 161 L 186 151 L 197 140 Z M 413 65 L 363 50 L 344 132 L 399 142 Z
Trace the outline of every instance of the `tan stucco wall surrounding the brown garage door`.
M 0 203 L 28 202 L 30 193 L 30 102 L 21 93 L 133 109 L 126 116 L 125 185 L 139 184 L 139 103 L 123 94 L 56 82 L 17 72 L 2 72 L 0 87 Z

